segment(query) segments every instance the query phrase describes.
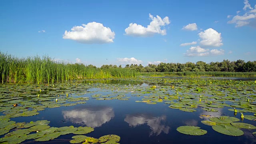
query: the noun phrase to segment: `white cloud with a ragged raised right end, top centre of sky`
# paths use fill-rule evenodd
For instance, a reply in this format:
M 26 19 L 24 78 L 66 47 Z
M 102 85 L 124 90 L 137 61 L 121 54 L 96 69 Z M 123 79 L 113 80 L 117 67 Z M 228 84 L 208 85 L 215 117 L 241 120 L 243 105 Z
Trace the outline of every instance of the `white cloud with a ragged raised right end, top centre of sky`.
M 162 19 L 160 16 L 154 17 L 149 14 L 149 18 L 152 21 L 150 22 L 150 25 L 148 25 L 146 28 L 140 24 L 130 23 L 129 27 L 124 30 L 126 32 L 126 35 L 144 37 L 152 36 L 154 34 L 166 35 L 166 29 L 161 28 L 162 26 L 170 24 L 168 16 Z

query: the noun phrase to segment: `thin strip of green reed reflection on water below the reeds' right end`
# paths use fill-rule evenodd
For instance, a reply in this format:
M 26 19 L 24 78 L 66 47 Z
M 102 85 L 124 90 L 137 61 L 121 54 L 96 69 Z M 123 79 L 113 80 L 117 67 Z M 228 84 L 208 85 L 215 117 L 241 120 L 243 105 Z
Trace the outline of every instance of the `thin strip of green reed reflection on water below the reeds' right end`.
M 148 85 L 154 85 L 155 83 L 152 82 L 140 82 L 135 80 L 84 80 L 83 83 L 102 83 L 102 84 L 126 84 L 126 85 L 142 85 L 142 84 L 148 84 Z

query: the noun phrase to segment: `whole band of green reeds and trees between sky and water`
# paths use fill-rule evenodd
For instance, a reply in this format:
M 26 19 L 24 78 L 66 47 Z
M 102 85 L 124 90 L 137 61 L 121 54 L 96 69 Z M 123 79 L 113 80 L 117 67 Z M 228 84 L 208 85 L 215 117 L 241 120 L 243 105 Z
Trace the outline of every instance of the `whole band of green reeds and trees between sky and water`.
M 54 83 L 88 78 L 134 78 L 138 76 L 217 76 L 217 77 L 255 77 L 256 61 L 237 60 L 230 62 L 192 62 L 148 64 L 126 64 L 124 68 L 116 65 L 70 64 L 52 60 L 44 55 L 17 58 L 0 52 L 0 82 L 3 83 Z

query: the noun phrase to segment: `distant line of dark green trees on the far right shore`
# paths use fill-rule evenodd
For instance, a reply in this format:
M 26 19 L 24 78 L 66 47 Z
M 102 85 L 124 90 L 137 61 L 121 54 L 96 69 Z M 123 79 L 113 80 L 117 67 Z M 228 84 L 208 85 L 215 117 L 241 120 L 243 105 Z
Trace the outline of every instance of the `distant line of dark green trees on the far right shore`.
M 121 68 L 122 66 L 116 65 L 102 65 L 101 68 Z M 222 62 L 186 62 L 181 63 L 164 63 L 148 64 L 126 64 L 124 68 L 136 70 L 137 72 L 256 72 L 256 61 L 236 60 L 223 60 Z

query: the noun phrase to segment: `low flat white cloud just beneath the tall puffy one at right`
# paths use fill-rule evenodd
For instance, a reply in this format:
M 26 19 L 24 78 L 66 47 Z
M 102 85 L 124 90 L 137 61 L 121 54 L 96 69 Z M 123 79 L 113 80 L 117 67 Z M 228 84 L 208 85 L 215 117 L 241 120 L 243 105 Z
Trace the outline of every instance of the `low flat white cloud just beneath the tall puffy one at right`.
M 224 50 L 222 49 L 209 50 L 209 49 L 201 48 L 200 46 L 191 46 L 189 50 L 186 50 L 186 53 L 184 55 L 194 57 L 194 56 L 211 56 L 211 55 L 216 56 L 216 55 L 222 55 L 222 54 L 224 54 Z

